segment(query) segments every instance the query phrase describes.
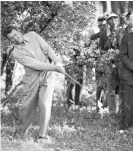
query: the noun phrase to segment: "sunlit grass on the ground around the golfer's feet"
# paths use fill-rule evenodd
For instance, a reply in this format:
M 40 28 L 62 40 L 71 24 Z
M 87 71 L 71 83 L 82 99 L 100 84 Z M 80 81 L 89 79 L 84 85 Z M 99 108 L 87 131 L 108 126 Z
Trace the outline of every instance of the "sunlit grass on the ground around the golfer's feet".
M 54 101 L 49 135 L 53 141 L 39 144 L 34 141 L 38 132 L 38 112 L 27 137 L 13 137 L 17 127 L 17 109 L 2 109 L 2 151 L 133 151 L 133 128 L 120 134 L 118 123 L 108 113 L 103 116 L 86 107 L 68 108 Z

